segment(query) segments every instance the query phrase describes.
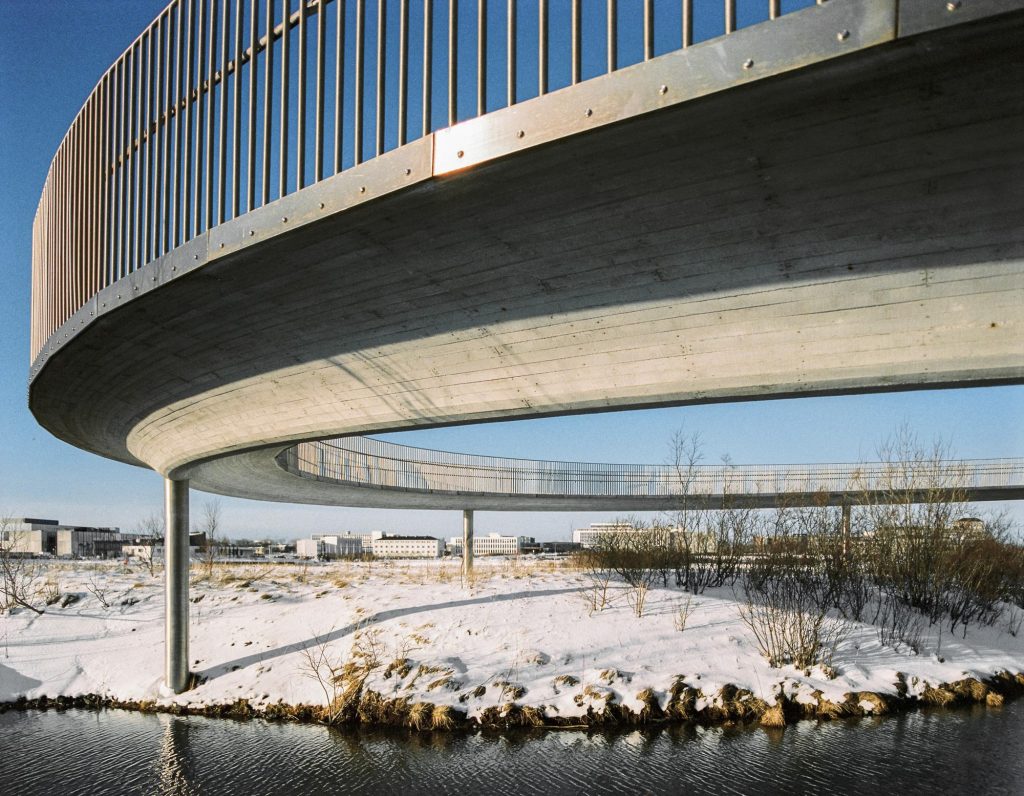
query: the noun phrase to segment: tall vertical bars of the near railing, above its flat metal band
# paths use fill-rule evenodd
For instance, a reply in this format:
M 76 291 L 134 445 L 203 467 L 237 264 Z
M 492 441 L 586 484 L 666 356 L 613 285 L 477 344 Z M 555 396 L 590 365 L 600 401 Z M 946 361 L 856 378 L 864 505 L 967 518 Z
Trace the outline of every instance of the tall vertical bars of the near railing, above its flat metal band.
M 226 220 L 435 129 L 781 12 L 780 0 L 173 0 L 50 165 L 32 358 L 101 289 Z

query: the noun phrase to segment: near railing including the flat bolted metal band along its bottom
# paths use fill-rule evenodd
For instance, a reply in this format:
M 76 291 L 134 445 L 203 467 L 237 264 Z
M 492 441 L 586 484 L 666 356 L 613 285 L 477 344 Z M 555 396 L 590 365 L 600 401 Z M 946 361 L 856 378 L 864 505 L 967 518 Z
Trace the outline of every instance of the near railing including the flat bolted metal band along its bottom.
M 32 374 L 166 280 L 388 191 L 1007 5 L 173 0 L 99 79 L 47 173 Z M 579 115 L 537 102 L 612 73 L 577 95 Z M 425 153 L 368 168 L 421 139 Z M 140 274 L 158 260 L 167 273 Z

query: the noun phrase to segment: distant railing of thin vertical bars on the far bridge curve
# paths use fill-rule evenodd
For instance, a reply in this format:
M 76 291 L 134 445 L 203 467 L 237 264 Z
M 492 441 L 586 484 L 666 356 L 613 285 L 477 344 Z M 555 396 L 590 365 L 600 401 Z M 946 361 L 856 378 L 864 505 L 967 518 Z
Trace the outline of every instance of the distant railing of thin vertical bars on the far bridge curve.
M 297 474 L 348 486 L 551 497 L 740 496 L 1024 488 L 1024 459 L 862 464 L 598 464 L 450 453 L 362 436 L 300 443 Z

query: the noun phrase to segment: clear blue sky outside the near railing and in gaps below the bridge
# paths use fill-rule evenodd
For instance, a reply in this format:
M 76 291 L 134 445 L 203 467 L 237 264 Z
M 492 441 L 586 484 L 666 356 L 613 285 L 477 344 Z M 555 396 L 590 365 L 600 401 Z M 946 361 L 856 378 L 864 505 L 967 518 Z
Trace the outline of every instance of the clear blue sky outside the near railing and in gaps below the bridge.
M 152 0 L 5 0 L 0 27 L 0 515 L 130 529 L 161 509 L 147 470 L 79 451 L 40 428 L 27 408 L 31 225 L 39 192 L 69 124 L 102 72 L 161 10 Z M 923 390 L 744 402 L 517 421 L 391 434 L 422 447 L 527 458 L 666 460 L 680 426 L 700 431 L 707 460 L 736 463 L 858 461 L 906 423 L 958 456 L 1024 453 L 1024 387 Z M 207 499 L 193 494 L 194 512 Z M 1018 522 L 1021 503 L 1008 504 Z M 479 512 L 478 532 L 566 538 L 608 514 Z M 231 535 L 295 537 L 335 530 L 449 536 L 458 512 L 290 506 L 223 499 Z

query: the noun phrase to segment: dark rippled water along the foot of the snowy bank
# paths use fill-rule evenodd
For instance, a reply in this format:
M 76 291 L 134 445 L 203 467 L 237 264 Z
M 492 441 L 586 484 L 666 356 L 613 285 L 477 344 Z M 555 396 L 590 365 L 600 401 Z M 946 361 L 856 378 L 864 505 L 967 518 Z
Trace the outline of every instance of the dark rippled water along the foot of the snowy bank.
M 121 711 L 0 715 L 0 793 L 18 796 L 1016 794 L 1022 785 L 1024 703 L 770 731 L 449 735 Z

